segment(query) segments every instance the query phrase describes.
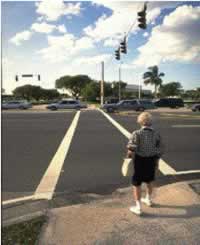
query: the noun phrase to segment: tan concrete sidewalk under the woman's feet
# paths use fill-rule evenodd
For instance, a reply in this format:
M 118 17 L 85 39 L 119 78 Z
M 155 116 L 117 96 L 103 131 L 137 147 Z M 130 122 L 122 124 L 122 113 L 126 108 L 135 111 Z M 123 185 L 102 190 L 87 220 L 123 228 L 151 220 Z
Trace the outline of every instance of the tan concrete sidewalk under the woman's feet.
M 129 211 L 132 189 L 126 188 L 108 199 L 51 209 L 40 244 L 199 244 L 200 197 L 187 183 L 157 188 L 154 202 L 138 217 Z

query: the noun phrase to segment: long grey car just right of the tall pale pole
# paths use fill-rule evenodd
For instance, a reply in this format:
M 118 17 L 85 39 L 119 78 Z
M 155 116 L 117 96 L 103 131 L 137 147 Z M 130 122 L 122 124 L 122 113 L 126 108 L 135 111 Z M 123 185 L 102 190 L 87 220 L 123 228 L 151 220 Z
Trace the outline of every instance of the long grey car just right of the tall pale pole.
M 155 105 L 150 100 L 122 100 L 117 104 L 104 104 L 101 107 L 103 110 L 107 112 L 115 112 L 115 111 L 144 111 L 146 109 L 155 109 Z

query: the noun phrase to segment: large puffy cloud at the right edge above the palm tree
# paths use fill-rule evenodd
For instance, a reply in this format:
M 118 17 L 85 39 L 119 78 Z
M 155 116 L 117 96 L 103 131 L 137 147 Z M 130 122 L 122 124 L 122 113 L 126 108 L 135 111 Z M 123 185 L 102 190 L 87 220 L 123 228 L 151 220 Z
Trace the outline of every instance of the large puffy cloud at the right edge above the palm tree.
M 161 62 L 200 61 L 200 7 L 180 6 L 154 27 L 148 42 L 138 50 L 135 65 L 158 65 Z

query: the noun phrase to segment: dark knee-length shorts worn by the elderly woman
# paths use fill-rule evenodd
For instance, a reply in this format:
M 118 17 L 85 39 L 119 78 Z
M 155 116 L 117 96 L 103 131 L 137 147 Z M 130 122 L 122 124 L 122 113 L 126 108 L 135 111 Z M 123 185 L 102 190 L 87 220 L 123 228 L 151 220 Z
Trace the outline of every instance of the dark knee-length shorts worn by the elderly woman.
M 141 157 L 135 155 L 134 175 L 132 177 L 132 184 L 134 186 L 140 186 L 143 182 L 150 183 L 155 180 L 158 159 L 157 156 Z

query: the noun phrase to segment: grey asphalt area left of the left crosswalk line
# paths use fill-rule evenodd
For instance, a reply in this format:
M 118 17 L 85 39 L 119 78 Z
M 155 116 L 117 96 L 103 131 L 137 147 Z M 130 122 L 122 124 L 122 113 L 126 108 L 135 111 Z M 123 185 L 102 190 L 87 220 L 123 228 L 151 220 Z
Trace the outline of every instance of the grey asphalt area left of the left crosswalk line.
M 33 194 L 74 114 L 2 114 L 3 200 Z

